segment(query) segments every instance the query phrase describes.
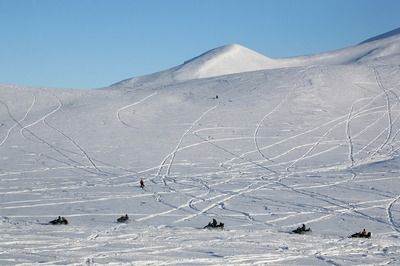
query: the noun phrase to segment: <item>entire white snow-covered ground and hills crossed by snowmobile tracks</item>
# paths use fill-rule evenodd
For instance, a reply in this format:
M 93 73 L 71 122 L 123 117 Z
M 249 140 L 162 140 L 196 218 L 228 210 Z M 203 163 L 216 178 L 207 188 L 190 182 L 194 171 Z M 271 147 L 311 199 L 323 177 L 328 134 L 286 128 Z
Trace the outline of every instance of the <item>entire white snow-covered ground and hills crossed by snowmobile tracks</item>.
M 399 265 L 399 46 L 0 86 L 0 265 Z

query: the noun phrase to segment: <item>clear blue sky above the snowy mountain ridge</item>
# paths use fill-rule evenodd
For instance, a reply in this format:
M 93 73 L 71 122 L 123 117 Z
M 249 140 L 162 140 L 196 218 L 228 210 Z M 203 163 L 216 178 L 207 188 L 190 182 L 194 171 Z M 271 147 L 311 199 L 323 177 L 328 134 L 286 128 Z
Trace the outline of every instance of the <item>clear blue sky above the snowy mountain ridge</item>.
M 290 57 L 400 27 L 400 0 L 0 0 L 0 84 L 95 88 L 239 43 Z

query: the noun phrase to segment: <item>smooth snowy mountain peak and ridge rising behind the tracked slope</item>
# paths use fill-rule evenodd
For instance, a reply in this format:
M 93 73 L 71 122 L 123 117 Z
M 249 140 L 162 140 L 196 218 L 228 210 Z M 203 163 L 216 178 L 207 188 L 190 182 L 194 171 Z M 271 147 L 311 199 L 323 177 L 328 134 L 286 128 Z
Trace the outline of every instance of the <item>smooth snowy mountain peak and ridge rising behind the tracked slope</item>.
M 353 47 L 315 55 L 271 59 L 238 44 L 210 50 L 182 65 L 158 73 L 135 77 L 113 84 L 112 88 L 161 86 L 186 80 L 312 65 L 398 64 L 400 61 L 400 28 L 370 38 Z

